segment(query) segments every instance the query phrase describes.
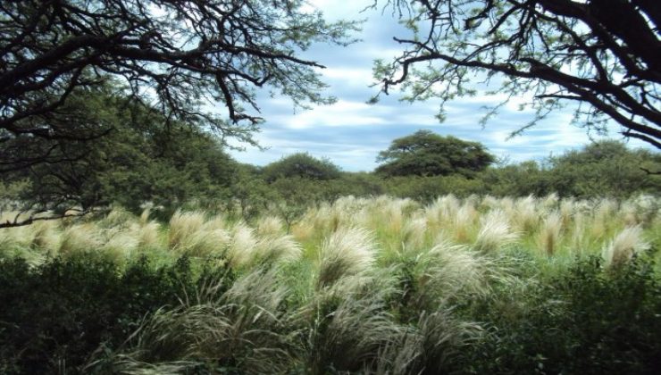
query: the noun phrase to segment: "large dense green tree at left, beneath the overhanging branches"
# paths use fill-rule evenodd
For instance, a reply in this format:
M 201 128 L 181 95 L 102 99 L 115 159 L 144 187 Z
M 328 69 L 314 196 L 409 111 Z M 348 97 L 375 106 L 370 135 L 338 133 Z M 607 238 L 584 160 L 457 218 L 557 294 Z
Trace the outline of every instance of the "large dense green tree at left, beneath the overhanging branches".
M 163 118 L 139 102 L 107 90 L 88 94 L 72 93 L 63 109 L 73 105 L 86 119 L 112 131 L 96 139 L 71 140 L 52 152 L 76 157 L 6 171 L 4 179 L 14 186 L 29 182 L 13 196 L 21 202 L 14 208 L 31 216 L 0 222 L 0 228 L 62 217 L 71 209 L 83 214 L 108 204 L 139 212 L 146 201 L 163 207 L 163 216 L 168 216 L 190 199 L 227 196 L 237 163 L 212 134 L 178 122 L 161 129 L 156 124 Z M 13 138 L 6 144 L 20 147 L 25 140 Z

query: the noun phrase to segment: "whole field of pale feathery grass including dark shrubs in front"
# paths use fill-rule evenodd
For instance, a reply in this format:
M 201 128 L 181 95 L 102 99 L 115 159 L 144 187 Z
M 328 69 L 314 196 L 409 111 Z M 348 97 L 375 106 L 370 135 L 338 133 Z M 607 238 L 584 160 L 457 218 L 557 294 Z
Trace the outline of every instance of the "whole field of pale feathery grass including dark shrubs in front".
M 653 373 L 660 207 L 348 196 L 290 227 L 115 209 L 3 229 L 0 372 Z

